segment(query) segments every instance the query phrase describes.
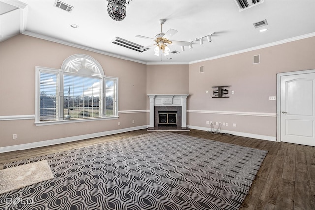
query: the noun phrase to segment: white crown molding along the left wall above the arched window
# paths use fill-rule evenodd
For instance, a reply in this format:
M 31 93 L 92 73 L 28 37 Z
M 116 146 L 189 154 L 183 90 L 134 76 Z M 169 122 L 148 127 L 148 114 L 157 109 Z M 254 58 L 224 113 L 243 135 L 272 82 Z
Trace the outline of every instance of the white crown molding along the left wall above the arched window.
M 56 43 L 67 45 L 67 46 L 71 46 L 71 47 L 80 48 L 80 49 L 83 49 L 83 50 L 89 50 L 91 52 L 103 54 L 103 55 L 106 55 L 106 56 L 111 56 L 111 57 L 115 57 L 115 58 L 119 58 L 119 59 L 123 59 L 123 60 L 129 60 L 129 61 L 132 61 L 132 62 L 137 62 L 137 63 L 141 63 L 141 64 L 145 64 L 145 65 L 147 64 L 146 62 L 143 62 L 143 61 L 140 61 L 140 60 L 130 59 L 130 58 L 127 58 L 127 57 L 119 56 L 117 54 L 109 53 L 109 52 L 102 51 L 102 50 L 97 50 L 97 49 L 92 48 L 92 47 L 86 47 L 84 45 L 79 45 L 79 44 L 75 44 L 75 43 L 72 43 L 72 42 L 63 41 L 63 40 L 56 39 L 56 38 L 53 38 L 53 37 L 50 37 L 50 36 L 45 36 L 45 35 L 41 35 L 41 34 L 38 34 L 38 33 L 33 33 L 33 32 L 30 32 L 30 31 L 24 31 L 24 32 L 22 32 L 22 34 L 23 35 L 27 35 L 27 36 L 32 36 L 32 37 L 35 37 L 35 38 L 39 38 L 39 39 L 44 39 L 44 40 L 51 41 L 51 42 L 56 42 Z

